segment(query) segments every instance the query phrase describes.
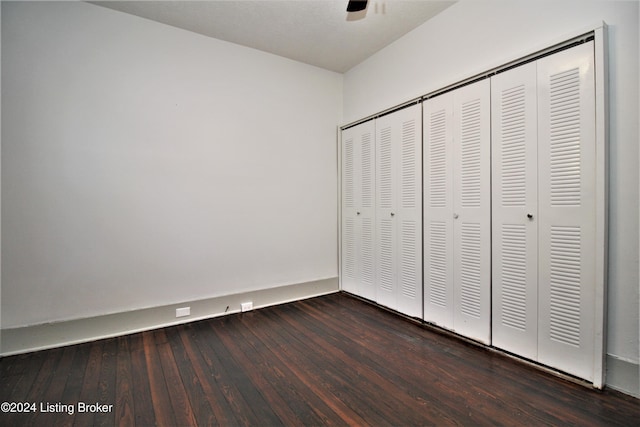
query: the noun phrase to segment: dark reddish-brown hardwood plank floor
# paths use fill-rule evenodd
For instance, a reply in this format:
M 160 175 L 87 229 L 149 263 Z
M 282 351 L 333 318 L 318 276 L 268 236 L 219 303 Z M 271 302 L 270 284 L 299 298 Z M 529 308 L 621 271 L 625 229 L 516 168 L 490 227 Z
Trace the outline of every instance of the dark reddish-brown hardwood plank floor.
M 2 426 L 640 424 L 638 399 L 344 294 L 5 357 L 0 376 L 0 402 L 37 405 Z

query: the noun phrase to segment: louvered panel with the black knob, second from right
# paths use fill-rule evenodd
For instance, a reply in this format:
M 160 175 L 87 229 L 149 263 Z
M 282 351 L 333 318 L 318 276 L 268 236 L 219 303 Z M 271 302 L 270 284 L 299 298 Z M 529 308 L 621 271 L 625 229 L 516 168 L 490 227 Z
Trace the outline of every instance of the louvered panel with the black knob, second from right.
M 535 63 L 491 79 L 492 344 L 532 360 L 538 348 L 536 98 Z

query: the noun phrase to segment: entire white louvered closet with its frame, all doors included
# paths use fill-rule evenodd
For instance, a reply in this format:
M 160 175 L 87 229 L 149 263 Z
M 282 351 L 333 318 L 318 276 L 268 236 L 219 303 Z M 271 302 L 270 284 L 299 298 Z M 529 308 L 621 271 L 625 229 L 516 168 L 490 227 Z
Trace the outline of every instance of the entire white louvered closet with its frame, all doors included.
M 602 387 L 603 29 L 342 132 L 342 288 Z

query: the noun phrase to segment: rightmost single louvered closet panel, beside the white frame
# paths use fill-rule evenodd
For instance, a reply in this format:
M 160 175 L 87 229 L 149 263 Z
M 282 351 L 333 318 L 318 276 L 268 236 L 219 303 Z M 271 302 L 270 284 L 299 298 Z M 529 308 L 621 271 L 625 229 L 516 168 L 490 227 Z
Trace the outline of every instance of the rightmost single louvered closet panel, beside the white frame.
M 596 146 L 593 42 L 538 61 L 538 360 L 593 379 Z

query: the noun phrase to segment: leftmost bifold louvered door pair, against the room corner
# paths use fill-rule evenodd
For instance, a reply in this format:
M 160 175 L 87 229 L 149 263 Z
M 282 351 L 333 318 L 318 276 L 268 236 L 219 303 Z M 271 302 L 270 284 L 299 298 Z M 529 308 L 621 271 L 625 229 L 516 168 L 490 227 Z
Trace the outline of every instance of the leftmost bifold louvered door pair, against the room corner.
M 342 289 L 375 300 L 375 131 L 369 121 L 342 132 Z

